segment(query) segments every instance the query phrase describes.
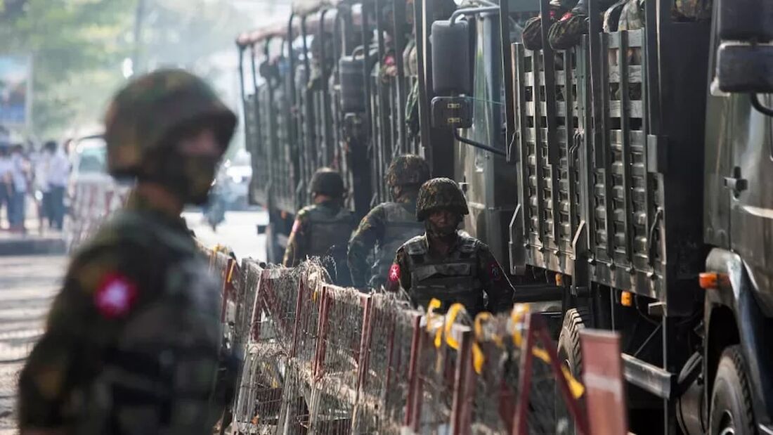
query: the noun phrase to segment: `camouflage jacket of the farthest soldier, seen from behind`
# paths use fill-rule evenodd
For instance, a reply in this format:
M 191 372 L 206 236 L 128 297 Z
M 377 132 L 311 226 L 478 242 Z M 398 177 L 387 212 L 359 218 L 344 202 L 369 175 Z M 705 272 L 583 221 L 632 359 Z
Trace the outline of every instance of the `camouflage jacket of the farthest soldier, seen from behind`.
M 346 257 L 354 226 L 354 215 L 338 201 L 304 207 L 295 216 L 282 264 L 295 267 L 306 257 Z

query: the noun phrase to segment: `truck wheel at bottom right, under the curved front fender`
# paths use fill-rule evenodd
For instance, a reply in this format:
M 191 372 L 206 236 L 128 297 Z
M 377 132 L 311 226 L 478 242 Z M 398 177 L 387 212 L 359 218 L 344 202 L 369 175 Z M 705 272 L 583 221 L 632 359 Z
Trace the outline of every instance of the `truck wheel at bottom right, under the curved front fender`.
M 751 405 L 751 387 L 741 346 L 725 348 L 711 394 L 711 433 L 757 433 Z

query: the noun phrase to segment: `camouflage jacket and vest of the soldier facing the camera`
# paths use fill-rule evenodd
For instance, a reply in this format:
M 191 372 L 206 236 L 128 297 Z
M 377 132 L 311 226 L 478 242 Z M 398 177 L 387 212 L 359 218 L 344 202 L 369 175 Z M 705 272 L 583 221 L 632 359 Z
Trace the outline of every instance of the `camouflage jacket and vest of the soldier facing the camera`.
M 480 311 L 507 311 L 515 296 L 489 246 L 461 234 L 444 257 L 432 252 L 427 236 L 414 237 L 401 246 L 390 268 L 387 290 L 400 287 L 414 306 L 427 308 L 434 297 L 442 302 L 441 311 L 460 302 L 472 316 Z

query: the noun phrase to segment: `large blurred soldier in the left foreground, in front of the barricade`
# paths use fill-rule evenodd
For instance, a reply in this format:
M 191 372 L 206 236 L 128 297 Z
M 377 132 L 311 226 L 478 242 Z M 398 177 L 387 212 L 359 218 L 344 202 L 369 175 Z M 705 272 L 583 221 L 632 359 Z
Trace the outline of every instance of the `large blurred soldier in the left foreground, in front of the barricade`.
M 108 169 L 137 184 L 70 263 L 19 379 L 22 434 L 212 433 L 229 400 L 220 387 L 230 382 L 216 379 L 237 361 L 221 346 L 219 287 L 180 212 L 206 201 L 236 122 L 182 70 L 114 97 Z

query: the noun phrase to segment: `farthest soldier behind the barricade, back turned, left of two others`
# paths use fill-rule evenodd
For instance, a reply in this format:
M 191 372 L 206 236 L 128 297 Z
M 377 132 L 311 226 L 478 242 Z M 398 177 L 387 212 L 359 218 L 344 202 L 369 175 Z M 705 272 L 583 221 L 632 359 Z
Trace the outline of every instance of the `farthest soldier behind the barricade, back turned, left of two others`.
M 295 216 L 282 263 L 284 267 L 295 267 L 307 257 L 332 257 L 335 268 L 328 268 L 331 277 L 335 284 L 348 286 L 351 283 L 346 246 L 355 220 L 343 206 L 343 178 L 331 168 L 320 168 L 312 177 L 309 191 L 313 204 Z

